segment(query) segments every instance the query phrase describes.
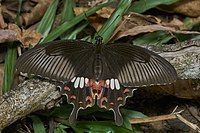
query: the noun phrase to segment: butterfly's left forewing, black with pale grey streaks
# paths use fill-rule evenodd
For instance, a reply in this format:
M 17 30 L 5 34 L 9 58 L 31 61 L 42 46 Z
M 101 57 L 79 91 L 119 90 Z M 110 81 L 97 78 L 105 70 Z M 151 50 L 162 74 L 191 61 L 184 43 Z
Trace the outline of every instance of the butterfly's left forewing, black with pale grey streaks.
M 93 78 L 93 49 L 93 44 L 75 40 L 38 45 L 18 58 L 15 70 L 61 82 L 75 76 Z

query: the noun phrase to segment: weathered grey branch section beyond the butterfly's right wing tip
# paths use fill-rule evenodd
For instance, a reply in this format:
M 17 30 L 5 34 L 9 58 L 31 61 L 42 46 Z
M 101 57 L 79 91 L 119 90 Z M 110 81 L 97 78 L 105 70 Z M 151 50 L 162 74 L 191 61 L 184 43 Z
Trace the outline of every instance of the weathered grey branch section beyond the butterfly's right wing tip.
M 148 49 L 168 60 L 182 79 L 200 79 L 200 41 L 149 45 Z

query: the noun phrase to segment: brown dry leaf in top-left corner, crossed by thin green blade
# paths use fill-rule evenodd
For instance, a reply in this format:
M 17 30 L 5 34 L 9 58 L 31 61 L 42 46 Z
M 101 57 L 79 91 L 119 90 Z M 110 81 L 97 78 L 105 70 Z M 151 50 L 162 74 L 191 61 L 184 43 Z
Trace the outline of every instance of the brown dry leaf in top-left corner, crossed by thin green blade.
M 19 17 L 20 24 L 25 26 L 31 25 L 39 21 L 47 10 L 52 0 L 38 0 L 38 3 L 24 1 L 21 8 L 21 16 Z M 18 10 L 18 1 L 3 2 L 2 14 L 9 22 L 15 22 Z

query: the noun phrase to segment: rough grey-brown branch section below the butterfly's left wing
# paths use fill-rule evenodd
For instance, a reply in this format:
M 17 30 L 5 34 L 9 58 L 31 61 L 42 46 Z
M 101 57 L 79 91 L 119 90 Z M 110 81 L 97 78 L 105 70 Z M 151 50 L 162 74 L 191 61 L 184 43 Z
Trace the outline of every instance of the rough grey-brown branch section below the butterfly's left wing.
M 56 86 L 49 82 L 35 79 L 23 82 L 0 97 L 0 130 L 31 112 L 45 109 L 59 97 Z

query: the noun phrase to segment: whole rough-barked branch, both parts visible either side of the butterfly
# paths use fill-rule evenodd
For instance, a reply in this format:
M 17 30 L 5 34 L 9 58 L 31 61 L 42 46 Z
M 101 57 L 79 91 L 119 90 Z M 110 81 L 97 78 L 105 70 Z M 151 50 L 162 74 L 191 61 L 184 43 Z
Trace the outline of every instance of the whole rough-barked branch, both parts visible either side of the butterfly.
M 147 46 L 167 59 L 180 78 L 200 79 L 200 41 L 165 46 Z M 0 97 L 0 130 L 31 112 L 51 108 L 60 98 L 56 86 L 36 79 L 27 80 Z

